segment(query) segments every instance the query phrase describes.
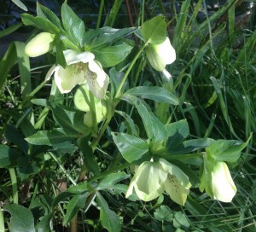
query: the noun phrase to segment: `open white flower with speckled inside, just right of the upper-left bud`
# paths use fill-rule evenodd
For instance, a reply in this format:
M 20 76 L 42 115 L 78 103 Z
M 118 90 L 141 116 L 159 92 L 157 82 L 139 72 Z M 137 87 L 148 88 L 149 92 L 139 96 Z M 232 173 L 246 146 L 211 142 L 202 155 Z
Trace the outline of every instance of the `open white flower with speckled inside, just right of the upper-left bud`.
M 67 67 L 51 67 L 46 74 L 46 80 L 55 73 L 55 83 L 61 93 L 70 92 L 77 84 L 86 84 L 94 96 L 102 99 L 108 88 L 109 77 L 101 63 L 94 60 L 95 56 L 90 52 L 67 49 L 63 53 Z

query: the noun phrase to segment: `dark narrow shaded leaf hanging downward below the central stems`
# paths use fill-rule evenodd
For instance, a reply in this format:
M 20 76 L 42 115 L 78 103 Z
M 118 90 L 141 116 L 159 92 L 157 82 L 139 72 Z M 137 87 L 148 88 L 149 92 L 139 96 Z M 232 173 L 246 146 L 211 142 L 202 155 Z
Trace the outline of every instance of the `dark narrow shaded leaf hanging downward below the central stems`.
M 84 155 L 84 165 L 91 171 L 94 175 L 100 175 L 101 171 L 98 163 L 96 162 L 95 155 L 93 155 L 93 150 L 89 146 L 90 136 L 80 137 L 78 139 L 78 145 L 81 152 Z

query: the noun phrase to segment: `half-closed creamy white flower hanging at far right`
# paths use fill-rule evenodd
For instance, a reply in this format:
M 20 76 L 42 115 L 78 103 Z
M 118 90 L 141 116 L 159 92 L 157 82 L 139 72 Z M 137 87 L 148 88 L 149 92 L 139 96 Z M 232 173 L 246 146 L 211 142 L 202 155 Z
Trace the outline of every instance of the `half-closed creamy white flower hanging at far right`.
M 236 195 L 236 185 L 230 175 L 226 163 L 217 161 L 212 170 L 212 194 L 213 198 L 230 202 Z

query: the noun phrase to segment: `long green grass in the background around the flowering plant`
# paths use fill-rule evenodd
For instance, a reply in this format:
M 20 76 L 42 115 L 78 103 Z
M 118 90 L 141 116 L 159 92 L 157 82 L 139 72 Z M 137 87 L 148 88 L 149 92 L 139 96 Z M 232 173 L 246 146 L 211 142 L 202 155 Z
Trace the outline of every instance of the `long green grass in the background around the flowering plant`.
M 23 2 L 26 3 L 26 1 Z M 124 19 L 123 14 L 125 14 L 124 25 L 130 25 L 125 1 L 112 2 L 112 9 L 105 9 L 101 5 L 102 14 L 98 16 L 96 26 L 120 26 L 120 19 Z M 255 133 L 256 25 L 255 21 L 254 24 L 249 23 L 250 17 L 251 22 L 253 21 L 253 13 L 248 14 L 248 23 L 239 26 L 241 21 L 236 21 L 238 17 L 235 13 L 241 10 L 241 5 L 238 4 L 240 1 L 228 1 L 211 15 L 205 8 L 205 1 L 201 0 L 196 1 L 197 3 L 195 1 L 150 1 L 150 3 L 141 1 L 145 2 L 144 6 L 134 1 L 136 2 L 135 8 L 133 8 L 133 1 L 128 2 L 134 14 L 135 9 L 137 10 L 139 20 L 131 15 L 134 26 L 140 26 L 142 21 L 155 14 L 166 14 L 168 29 L 170 29 L 168 33 L 177 51 L 177 61 L 168 67 L 172 73 L 172 83 L 163 81 L 159 73 L 145 66 L 147 62 L 145 57 L 137 61 L 130 75 L 134 78 L 129 79 L 127 83 L 130 86 L 152 83 L 163 86 L 178 96 L 180 104 L 175 107 L 166 103 L 148 102 L 160 120 L 166 123 L 187 119 L 190 138 L 212 137 L 245 142 L 252 132 Z M 172 4 L 181 2 L 181 11 L 170 15 Z M 206 16 L 201 22 L 197 18 L 199 12 L 204 12 Z M 38 122 L 37 129 L 48 130 L 55 125 L 51 113 L 46 108 L 34 106 L 32 109 L 31 104 L 26 104 L 25 101 L 31 90 L 38 85 L 38 79 L 44 80 L 49 67 L 43 66 L 51 64 L 52 57 L 49 55 L 46 61 L 29 64 L 26 56 L 20 56 L 20 48 L 23 45 L 17 42 L 12 44 L 7 54 L 1 57 L 0 64 L 1 78 L 7 78 L 7 81 L 0 79 L 2 87 L 0 91 L 0 135 L 3 144 L 19 150 L 25 146 L 22 143 L 24 137 L 36 131 L 32 127 L 33 119 L 38 119 L 39 115 L 43 117 L 42 121 Z M 35 68 L 35 73 L 27 73 L 30 65 Z M 16 80 L 18 75 L 20 75 L 19 81 Z M 44 98 L 47 91 L 49 87 L 44 86 L 43 91 L 36 94 L 37 98 Z M 67 98 L 50 97 L 52 101 L 65 102 L 66 105 L 72 104 L 71 95 Z M 12 109 L 11 106 L 15 108 Z M 138 119 L 133 107 L 120 104 L 118 109 L 127 113 L 127 117 L 131 117 L 131 120 Z M 8 124 L 11 126 L 8 127 Z M 115 115 L 108 126 L 106 136 L 96 148 L 94 155 L 102 171 L 120 164 L 121 156 L 114 148 L 109 136 L 110 131 L 124 131 L 125 126 L 124 119 Z M 16 133 L 11 134 L 10 131 L 16 131 Z M 234 177 L 238 191 L 231 203 L 210 200 L 207 194 L 201 193 L 198 188 L 191 189 L 189 200 L 184 207 L 177 206 L 169 200 L 168 196 L 165 196 L 165 200 L 160 198 L 145 203 L 126 200 L 121 195 L 108 192 L 103 192 L 102 195 L 108 201 L 109 208 L 122 218 L 122 231 L 175 231 L 177 229 L 176 231 L 253 232 L 256 229 L 255 138 L 253 135 L 253 139 L 243 150 L 239 161 L 232 166 L 231 175 Z M 72 155 L 61 154 L 59 157 L 44 155 L 44 148 L 38 150 L 29 167 L 34 169 L 32 175 L 24 179 L 18 177 L 18 193 L 15 192 L 15 194 L 12 193 L 16 189 L 16 186 L 12 188 L 15 182 L 14 169 L 9 169 L 9 171 L 1 169 L 1 201 L 17 202 L 19 196 L 19 204 L 32 210 L 34 215 L 37 215 L 38 210 L 44 210 L 45 214 L 49 212 L 50 198 L 55 198 L 61 190 L 79 182 L 79 174 L 92 177 L 86 169 L 83 173 L 79 173 L 83 166 L 83 154 L 73 153 L 72 148 L 68 148 Z M 55 149 L 65 149 L 65 146 Z M 26 161 L 23 160 L 25 163 Z M 191 170 L 198 169 L 195 165 L 190 165 L 190 168 Z M 15 171 L 17 175 L 17 169 Z M 125 171 L 129 172 L 128 169 Z M 124 183 L 128 184 L 129 181 L 126 180 Z M 14 195 L 15 199 L 13 199 Z M 43 204 L 39 206 L 39 202 Z M 52 221 L 52 229 L 55 231 L 66 231 L 62 223 L 67 203 L 65 199 L 55 207 L 55 217 Z M 93 200 L 91 203 L 96 205 Z M 157 219 L 155 215 L 160 210 L 160 206 L 167 206 L 175 216 L 173 218 L 176 219 L 171 221 Z M 6 224 L 9 214 L 3 212 L 3 217 L 5 217 Z M 99 211 L 95 206 L 91 206 L 88 212 L 80 211 L 78 223 L 81 231 L 104 231 L 99 221 Z

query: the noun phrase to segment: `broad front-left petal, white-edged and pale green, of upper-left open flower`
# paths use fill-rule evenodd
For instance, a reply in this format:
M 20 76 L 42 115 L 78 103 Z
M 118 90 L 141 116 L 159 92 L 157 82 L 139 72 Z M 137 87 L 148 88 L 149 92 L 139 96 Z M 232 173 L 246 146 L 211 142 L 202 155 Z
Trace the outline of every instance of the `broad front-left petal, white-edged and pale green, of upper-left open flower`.
M 76 67 L 55 67 L 55 83 L 62 94 L 70 92 L 77 84 L 84 82 L 84 71 Z

